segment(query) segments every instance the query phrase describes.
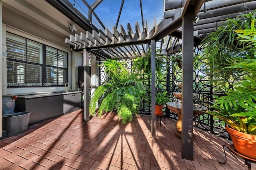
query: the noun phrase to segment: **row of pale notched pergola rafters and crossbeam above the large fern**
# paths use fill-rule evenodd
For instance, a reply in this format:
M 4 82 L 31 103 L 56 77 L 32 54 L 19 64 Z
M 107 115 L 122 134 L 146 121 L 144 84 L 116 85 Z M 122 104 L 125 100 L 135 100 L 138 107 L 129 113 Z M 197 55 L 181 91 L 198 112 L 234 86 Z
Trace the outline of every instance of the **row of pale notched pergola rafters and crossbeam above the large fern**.
M 90 51 L 108 51 L 108 48 L 114 48 L 112 53 L 105 53 L 108 56 L 104 56 L 103 59 L 113 58 L 116 55 L 121 55 L 121 57 L 136 57 L 139 55 L 143 55 L 146 53 L 145 48 L 142 44 L 150 43 L 150 32 L 145 32 L 145 29 L 140 31 L 140 27 L 138 22 L 136 22 L 135 31 L 130 27 L 130 23 L 128 23 L 127 31 L 120 25 L 120 31 L 118 31 L 114 26 L 112 32 L 105 28 L 105 33 L 101 29 L 96 31 L 86 31 L 86 34 L 80 33 L 80 35 L 75 34 L 70 35 L 70 37 L 66 37 L 65 42 L 74 46 L 73 49 L 88 49 Z M 135 33 L 134 33 L 135 32 Z M 116 45 L 119 44 L 119 45 Z M 120 45 L 123 44 L 123 45 Z M 134 49 L 132 45 L 135 45 L 137 51 Z M 137 45 L 141 44 L 142 48 L 139 48 Z M 131 49 L 129 51 L 128 49 Z M 115 58 L 115 57 L 114 57 Z

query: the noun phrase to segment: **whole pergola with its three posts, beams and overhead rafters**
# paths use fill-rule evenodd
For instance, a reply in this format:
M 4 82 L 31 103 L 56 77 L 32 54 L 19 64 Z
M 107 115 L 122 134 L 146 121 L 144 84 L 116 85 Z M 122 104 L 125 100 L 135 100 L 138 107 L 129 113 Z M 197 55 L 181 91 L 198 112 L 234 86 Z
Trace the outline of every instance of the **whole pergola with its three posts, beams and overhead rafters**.
M 72 50 L 84 51 L 84 94 L 89 94 L 89 53 L 96 55 L 96 59 L 122 59 L 146 54 L 148 46 L 152 49 L 152 106 L 155 105 L 155 51 L 156 42 L 161 42 L 162 53 L 170 55 L 182 49 L 182 158 L 193 159 L 193 47 L 198 45 L 206 35 L 214 31 L 226 18 L 235 18 L 239 13 L 246 13 L 256 9 L 255 0 L 164 0 L 164 20 L 153 28 L 148 28 L 143 20 L 142 3 L 142 28 L 136 22 L 135 30 L 130 23 L 127 29 L 120 25 L 117 30 L 118 20 L 122 12 L 122 4 L 116 26 L 112 30 L 98 29 L 92 25 L 92 15 L 104 27 L 94 10 L 103 0 L 96 0 L 91 6 L 82 0 L 89 9 L 88 19 L 79 16 L 78 10 L 72 8 L 68 1 L 47 0 L 56 8 L 64 12 L 86 32 L 66 37 L 66 43 Z M 169 46 L 163 48 L 163 38 L 168 36 Z M 179 44 L 178 39 L 186 40 Z M 88 106 L 89 95 L 84 100 L 84 122 L 90 120 Z M 151 113 L 151 133 L 155 134 L 155 108 Z

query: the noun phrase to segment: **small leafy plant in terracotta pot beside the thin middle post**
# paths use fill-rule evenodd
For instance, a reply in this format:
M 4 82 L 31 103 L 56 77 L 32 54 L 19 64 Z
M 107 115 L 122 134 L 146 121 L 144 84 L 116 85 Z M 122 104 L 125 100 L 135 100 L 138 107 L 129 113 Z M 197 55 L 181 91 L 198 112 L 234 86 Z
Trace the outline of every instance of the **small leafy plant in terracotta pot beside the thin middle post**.
M 162 110 L 164 104 L 170 102 L 170 96 L 167 96 L 167 92 L 158 92 L 156 93 L 156 106 L 155 106 L 155 113 L 156 115 L 162 115 Z

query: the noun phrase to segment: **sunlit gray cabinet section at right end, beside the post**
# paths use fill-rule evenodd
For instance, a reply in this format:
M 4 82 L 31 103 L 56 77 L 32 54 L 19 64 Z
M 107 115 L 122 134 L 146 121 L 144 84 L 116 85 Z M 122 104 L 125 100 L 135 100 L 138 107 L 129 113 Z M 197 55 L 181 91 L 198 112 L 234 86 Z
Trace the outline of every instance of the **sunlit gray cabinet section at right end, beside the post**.
M 63 113 L 81 109 L 81 93 L 63 95 Z

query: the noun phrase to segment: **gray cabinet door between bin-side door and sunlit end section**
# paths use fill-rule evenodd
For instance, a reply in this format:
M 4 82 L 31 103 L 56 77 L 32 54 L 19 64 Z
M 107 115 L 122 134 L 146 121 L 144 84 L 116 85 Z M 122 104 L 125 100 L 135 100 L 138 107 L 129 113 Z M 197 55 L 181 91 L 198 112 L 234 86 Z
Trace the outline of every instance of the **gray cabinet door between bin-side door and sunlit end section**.
M 46 97 L 46 119 L 62 114 L 62 96 Z

